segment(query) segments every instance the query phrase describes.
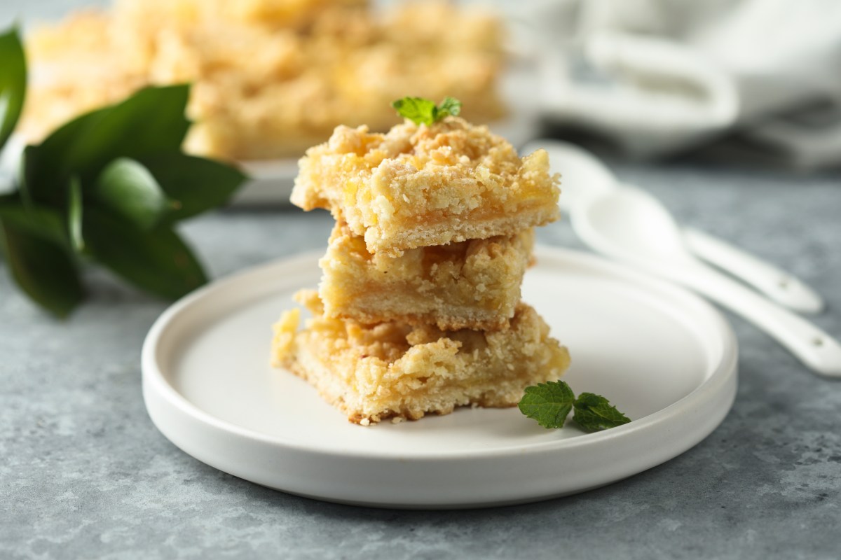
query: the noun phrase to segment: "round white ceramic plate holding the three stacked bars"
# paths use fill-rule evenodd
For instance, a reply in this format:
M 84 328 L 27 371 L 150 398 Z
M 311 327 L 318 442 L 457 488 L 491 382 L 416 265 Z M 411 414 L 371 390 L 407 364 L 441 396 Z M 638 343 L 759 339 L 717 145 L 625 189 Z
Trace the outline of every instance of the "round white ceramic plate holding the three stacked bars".
M 152 421 L 198 460 L 321 500 L 400 508 L 503 505 L 609 484 L 696 445 L 726 416 L 737 343 L 689 292 L 588 254 L 540 248 L 523 297 L 569 346 L 564 377 L 632 418 L 606 432 L 547 430 L 516 408 L 360 427 L 268 365 L 271 324 L 315 286 L 318 254 L 198 290 L 143 348 Z

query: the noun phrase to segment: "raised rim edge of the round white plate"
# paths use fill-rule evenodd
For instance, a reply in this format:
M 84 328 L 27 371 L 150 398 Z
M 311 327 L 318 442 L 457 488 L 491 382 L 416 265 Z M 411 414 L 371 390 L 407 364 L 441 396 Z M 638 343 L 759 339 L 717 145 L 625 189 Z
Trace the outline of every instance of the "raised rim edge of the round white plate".
M 440 461 L 443 459 L 451 460 L 458 458 L 494 459 L 524 452 L 551 453 L 555 451 L 572 451 L 577 450 L 580 447 L 600 445 L 602 442 L 608 442 L 611 439 L 616 439 L 617 437 L 625 437 L 628 433 L 648 429 L 648 427 L 653 424 L 659 424 L 661 422 L 669 421 L 670 418 L 680 415 L 681 408 L 685 406 L 690 406 L 696 400 L 703 400 L 703 393 L 713 390 L 714 385 L 721 385 L 723 383 L 726 383 L 727 378 L 730 376 L 733 376 L 733 378 L 736 377 L 738 363 L 738 341 L 735 337 L 735 334 L 733 333 L 733 329 L 732 327 L 730 327 L 729 323 L 724 319 L 722 314 L 719 311 L 717 311 L 714 307 L 712 307 L 711 304 L 702 300 L 700 296 L 696 296 L 695 294 L 691 293 L 688 290 L 685 290 L 680 286 L 670 284 L 669 282 L 660 280 L 658 278 L 654 278 L 653 276 L 646 275 L 637 270 L 632 270 L 626 265 L 609 261 L 595 254 L 588 254 L 573 249 L 561 249 L 558 247 L 546 246 L 542 244 L 539 244 L 537 246 L 535 253 L 538 258 L 541 254 L 549 254 L 554 255 L 555 257 L 559 257 L 561 259 L 583 260 L 588 265 L 600 268 L 607 268 L 611 270 L 611 273 L 632 277 L 637 281 L 642 281 L 644 284 L 654 285 L 658 290 L 669 291 L 673 296 L 678 296 L 680 298 L 685 298 L 689 301 L 692 301 L 692 304 L 696 306 L 700 303 L 700 307 L 704 309 L 704 311 L 708 314 L 711 320 L 718 323 L 718 327 L 721 330 L 721 339 L 723 343 L 722 359 L 714 366 L 711 372 L 706 374 L 705 379 L 701 381 L 700 385 L 696 386 L 695 389 L 691 390 L 688 395 L 681 397 L 679 400 L 675 400 L 672 404 L 670 404 L 669 406 L 665 406 L 659 411 L 655 411 L 652 414 L 649 414 L 648 416 L 643 416 L 643 418 L 632 421 L 621 427 L 611 428 L 611 430 L 606 430 L 603 432 L 595 432 L 583 434 L 577 437 L 564 438 L 553 442 L 524 443 L 522 447 L 491 449 L 472 448 L 460 450 L 458 451 L 458 453 L 452 451 L 442 453 L 426 452 L 422 456 L 406 456 L 405 453 L 389 452 L 389 450 L 383 450 L 380 453 L 371 453 L 369 450 L 358 452 L 352 450 L 349 451 L 346 449 L 330 450 L 320 447 L 309 447 L 299 442 L 290 442 L 284 440 L 281 437 L 270 436 L 261 432 L 257 432 L 255 430 L 252 430 L 251 428 L 241 427 L 229 421 L 225 421 L 216 416 L 213 416 L 211 413 L 203 411 L 198 406 L 194 405 L 169 383 L 169 381 L 166 378 L 166 375 L 163 371 L 161 371 L 160 364 L 157 364 L 156 362 L 156 348 L 158 347 L 158 344 L 161 341 L 161 336 L 165 334 L 167 327 L 170 325 L 174 317 L 177 317 L 182 311 L 186 310 L 189 306 L 193 306 L 195 302 L 201 301 L 205 297 L 212 296 L 214 291 L 225 289 L 226 286 L 233 285 L 237 282 L 241 282 L 250 276 L 269 274 L 270 271 L 272 271 L 272 269 L 277 268 L 281 265 L 291 266 L 293 264 L 310 264 L 311 261 L 318 259 L 318 257 L 320 256 L 320 252 L 309 251 L 305 253 L 293 254 L 288 257 L 276 259 L 268 263 L 258 264 L 246 270 L 242 270 L 232 275 L 220 278 L 219 280 L 214 280 L 209 285 L 205 285 L 202 288 L 193 291 L 191 294 L 188 294 L 188 296 L 184 296 L 182 299 L 173 303 L 172 306 L 168 307 L 166 311 L 161 313 L 161 316 L 156 319 L 156 322 L 153 323 L 148 334 L 146 335 L 141 350 L 141 368 L 143 376 L 144 399 L 146 400 L 147 390 L 157 390 L 159 393 L 161 393 L 161 396 L 163 396 L 164 399 L 168 401 L 168 404 L 170 406 L 176 407 L 180 411 L 188 414 L 188 416 L 193 416 L 195 420 L 203 421 L 209 424 L 211 427 L 214 427 L 215 429 L 222 430 L 224 432 L 229 432 L 237 437 L 245 437 L 246 439 L 249 439 L 251 441 L 260 442 L 262 444 L 268 444 L 273 447 L 283 449 L 294 449 L 300 452 L 313 453 L 321 457 L 330 458 L 366 458 L 372 460 L 399 458 L 402 460 L 424 462 Z M 278 284 L 277 289 L 282 288 L 283 285 Z M 733 391 L 733 393 L 735 394 L 735 391 Z M 725 416 L 726 413 L 730 410 L 731 406 L 732 400 L 727 406 Z M 150 416 L 152 416 L 151 413 Z M 155 418 L 153 417 L 152 420 L 155 421 Z M 155 423 L 157 426 L 157 422 Z M 158 428 L 161 429 L 160 426 L 158 426 Z M 377 428 L 374 427 L 373 429 Z M 164 430 L 161 430 L 161 432 L 164 432 Z M 164 435 L 166 436 L 167 434 L 164 433 Z M 706 437 L 706 435 L 704 437 Z M 169 437 L 167 436 L 167 438 Z

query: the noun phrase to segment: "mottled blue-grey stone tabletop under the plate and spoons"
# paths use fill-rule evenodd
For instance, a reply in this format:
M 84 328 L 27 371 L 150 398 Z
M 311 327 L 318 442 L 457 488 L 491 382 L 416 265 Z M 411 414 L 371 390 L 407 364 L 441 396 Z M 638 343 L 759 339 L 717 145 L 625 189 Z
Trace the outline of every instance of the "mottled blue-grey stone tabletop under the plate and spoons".
M 733 240 L 827 297 L 841 335 L 841 185 L 690 165 L 619 165 L 681 222 Z M 323 212 L 229 210 L 185 231 L 214 277 L 322 246 Z M 543 243 L 580 247 L 568 223 Z M 700 445 L 583 495 L 491 510 L 332 505 L 220 473 L 157 432 L 140 344 L 167 306 L 103 273 L 56 322 L 0 264 L 0 557 L 837 558 L 841 383 L 754 327 L 733 411 Z

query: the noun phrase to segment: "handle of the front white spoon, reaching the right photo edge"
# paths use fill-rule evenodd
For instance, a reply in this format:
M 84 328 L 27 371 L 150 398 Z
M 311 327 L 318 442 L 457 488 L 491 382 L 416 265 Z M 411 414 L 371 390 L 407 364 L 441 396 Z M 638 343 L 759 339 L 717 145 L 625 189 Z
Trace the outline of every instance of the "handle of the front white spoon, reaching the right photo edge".
M 841 343 L 812 322 L 703 264 L 663 266 L 657 272 L 753 322 L 814 371 L 841 378 Z

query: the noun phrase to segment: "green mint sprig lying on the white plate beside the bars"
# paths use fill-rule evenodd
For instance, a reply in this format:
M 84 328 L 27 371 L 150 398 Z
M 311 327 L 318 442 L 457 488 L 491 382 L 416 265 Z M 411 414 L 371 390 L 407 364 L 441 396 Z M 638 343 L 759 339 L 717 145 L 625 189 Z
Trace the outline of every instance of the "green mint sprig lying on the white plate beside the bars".
M 547 381 L 526 387 L 520 411 L 545 428 L 560 428 L 574 410 L 573 421 L 585 432 L 598 432 L 631 421 L 601 395 L 581 393 L 575 398 L 564 381 Z

